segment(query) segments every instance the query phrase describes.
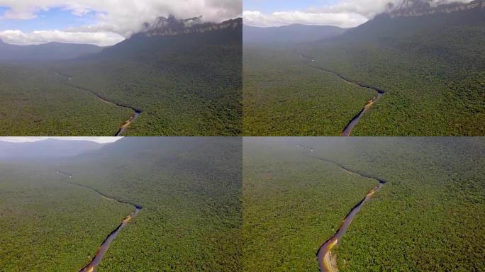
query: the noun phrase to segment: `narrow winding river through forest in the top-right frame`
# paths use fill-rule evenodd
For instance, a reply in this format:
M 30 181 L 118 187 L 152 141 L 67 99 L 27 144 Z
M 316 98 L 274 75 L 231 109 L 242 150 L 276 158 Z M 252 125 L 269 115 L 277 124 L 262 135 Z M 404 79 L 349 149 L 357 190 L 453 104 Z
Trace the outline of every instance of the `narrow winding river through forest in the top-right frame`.
M 374 86 L 367 85 L 367 84 L 362 84 L 362 83 L 359 83 L 357 81 L 352 81 L 350 79 L 347 79 L 347 77 L 344 77 L 342 74 L 340 74 L 338 72 L 335 72 L 335 71 L 333 71 L 331 69 L 325 69 L 325 68 L 322 68 L 322 67 L 317 67 L 315 65 L 311 65 L 311 63 L 312 62 L 315 62 L 315 60 L 316 60 L 314 57 L 308 57 L 308 56 L 303 55 L 303 54 L 300 54 L 300 57 L 303 57 L 303 58 L 305 58 L 307 60 L 310 60 L 310 62 L 305 62 L 305 64 L 308 64 L 309 67 L 318 69 L 320 71 L 323 71 L 323 72 L 326 72 L 326 73 L 329 73 L 329 74 L 333 74 L 333 75 L 339 77 L 340 79 L 342 79 L 342 81 L 345 81 L 345 83 L 347 83 L 347 84 L 351 84 L 351 85 L 355 85 L 355 86 L 360 86 L 362 88 L 366 88 L 366 89 L 371 89 L 373 91 L 377 91 L 377 96 L 374 96 L 374 98 L 372 98 L 370 101 L 368 101 L 365 104 L 364 108 L 362 108 L 362 111 L 359 111 L 359 113 L 357 115 L 355 115 L 354 118 L 352 118 L 352 120 L 349 121 L 349 123 L 347 124 L 347 126 L 345 126 L 345 128 L 340 133 L 341 136 L 350 136 L 350 135 L 352 135 L 352 130 L 354 130 L 354 128 L 357 125 L 357 123 L 359 123 L 360 118 L 362 118 L 362 116 L 364 115 L 364 113 L 366 113 L 369 110 L 369 108 L 371 108 L 372 105 L 374 105 L 374 103 L 376 103 L 384 95 L 384 90 L 379 89 L 379 88 L 376 88 Z

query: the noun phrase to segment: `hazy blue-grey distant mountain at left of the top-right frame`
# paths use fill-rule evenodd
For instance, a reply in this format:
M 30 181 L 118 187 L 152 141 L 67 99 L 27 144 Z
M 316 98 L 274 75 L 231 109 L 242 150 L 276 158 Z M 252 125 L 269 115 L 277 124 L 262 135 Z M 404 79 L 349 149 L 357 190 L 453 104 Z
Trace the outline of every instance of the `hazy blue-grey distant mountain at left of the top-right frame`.
M 301 43 L 332 38 L 345 33 L 344 28 L 336 26 L 290 26 L 258 28 L 243 26 L 245 44 Z

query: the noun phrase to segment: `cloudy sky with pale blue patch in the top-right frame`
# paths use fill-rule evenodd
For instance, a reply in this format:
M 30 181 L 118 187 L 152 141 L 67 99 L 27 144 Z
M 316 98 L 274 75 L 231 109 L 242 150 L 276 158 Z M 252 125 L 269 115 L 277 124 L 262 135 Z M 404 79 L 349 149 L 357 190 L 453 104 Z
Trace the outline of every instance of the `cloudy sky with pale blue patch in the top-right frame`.
M 386 11 L 387 4 L 404 0 L 244 0 L 243 19 L 249 26 L 286 26 L 292 23 L 352 28 Z M 452 1 L 427 0 L 432 5 Z

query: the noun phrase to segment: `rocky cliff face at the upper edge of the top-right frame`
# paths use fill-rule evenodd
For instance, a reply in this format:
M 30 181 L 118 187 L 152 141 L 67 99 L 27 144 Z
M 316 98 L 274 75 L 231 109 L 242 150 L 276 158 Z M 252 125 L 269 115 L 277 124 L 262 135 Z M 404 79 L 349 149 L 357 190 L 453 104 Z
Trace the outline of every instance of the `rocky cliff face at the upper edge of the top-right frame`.
M 437 13 L 452 13 L 471 9 L 485 10 L 485 0 L 474 0 L 469 3 L 452 3 L 433 6 L 428 0 L 404 0 L 396 6 L 389 5 L 388 13 L 392 18 L 418 17 Z

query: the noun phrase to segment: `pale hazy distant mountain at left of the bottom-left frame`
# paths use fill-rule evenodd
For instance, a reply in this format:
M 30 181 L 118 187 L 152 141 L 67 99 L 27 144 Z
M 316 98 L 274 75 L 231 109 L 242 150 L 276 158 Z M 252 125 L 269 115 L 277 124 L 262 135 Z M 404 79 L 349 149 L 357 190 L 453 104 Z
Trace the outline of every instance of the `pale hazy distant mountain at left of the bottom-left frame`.
M 74 157 L 101 147 L 103 145 L 91 141 L 4 142 L 0 140 L 0 160 L 59 159 Z

